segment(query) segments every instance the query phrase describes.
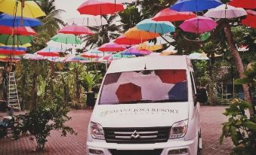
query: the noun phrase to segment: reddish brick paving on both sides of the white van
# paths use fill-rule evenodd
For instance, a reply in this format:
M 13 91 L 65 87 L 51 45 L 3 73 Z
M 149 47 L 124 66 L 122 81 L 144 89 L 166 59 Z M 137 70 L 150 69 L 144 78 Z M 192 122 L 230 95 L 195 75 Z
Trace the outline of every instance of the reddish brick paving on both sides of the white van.
M 228 140 L 224 144 L 219 144 L 221 135 L 221 123 L 227 119 L 222 112 L 224 107 L 202 107 L 201 123 L 204 155 L 228 155 L 232 148 L 232 143 Z M 4 115 L 0 113 L 0 116 Z M 0 139 L 0 155 L 45 155 L 45 154 L 85 154 L 86 131 L 91 117 L 91 111 L 88 110 L 72 110 L 69 112 L 72 120 L 67 125 L 72 126 L 78 135 L 67 135 L 61 137 L 60 132 L 51 132 L 51 137 L 45 144 L 45 150 L 35 152 L 35 140 L 31 140 L 29 136 L 24 136 L 17 141 L 7 138 Z

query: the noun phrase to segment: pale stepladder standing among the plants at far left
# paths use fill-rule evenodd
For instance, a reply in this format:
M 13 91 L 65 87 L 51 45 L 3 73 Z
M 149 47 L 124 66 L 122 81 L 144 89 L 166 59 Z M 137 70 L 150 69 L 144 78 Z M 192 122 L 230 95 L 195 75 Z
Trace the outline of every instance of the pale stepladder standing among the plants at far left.
M 8 106 L 20 111 L 20 100 L 14 72 L 10 72 L 8 78 Z

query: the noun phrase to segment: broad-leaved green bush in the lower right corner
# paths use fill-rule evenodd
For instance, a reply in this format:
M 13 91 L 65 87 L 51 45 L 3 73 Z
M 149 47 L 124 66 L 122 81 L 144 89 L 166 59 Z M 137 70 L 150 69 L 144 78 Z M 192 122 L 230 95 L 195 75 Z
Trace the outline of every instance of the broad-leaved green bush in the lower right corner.
M 245 110 L 249 108 L 250 104 L 236 99 L 224 112 L 229 120 L 222 124 L 220 142 L 222 144 L 224 138 L 231 138 L 235 145 L 233 155 L 253 155 L 256 152 L 256 117 L 248 118 Z

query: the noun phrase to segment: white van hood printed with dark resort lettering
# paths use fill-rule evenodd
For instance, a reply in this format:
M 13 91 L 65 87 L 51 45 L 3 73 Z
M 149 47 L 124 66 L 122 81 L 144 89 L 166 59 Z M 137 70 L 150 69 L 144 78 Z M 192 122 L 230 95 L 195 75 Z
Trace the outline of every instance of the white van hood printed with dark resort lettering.
M 97 105 L 91 121 L 103 127 L 171 126 L 188 118 L 188 102 Z

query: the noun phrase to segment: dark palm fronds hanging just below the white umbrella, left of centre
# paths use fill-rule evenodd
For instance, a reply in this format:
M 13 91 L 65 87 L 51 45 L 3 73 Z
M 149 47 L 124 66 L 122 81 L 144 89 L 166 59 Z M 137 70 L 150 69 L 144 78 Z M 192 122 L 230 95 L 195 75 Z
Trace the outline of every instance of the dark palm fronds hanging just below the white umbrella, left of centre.
M 103 16 L 106 19 L 107 25 L 90 27 L 95 33 L 94 35 L 85 37 L 85 47 L 100 47 L 102 44 L 108 43 L 110 40 L 119 37 L 119 26 L 116 26 L 116 16 Z

